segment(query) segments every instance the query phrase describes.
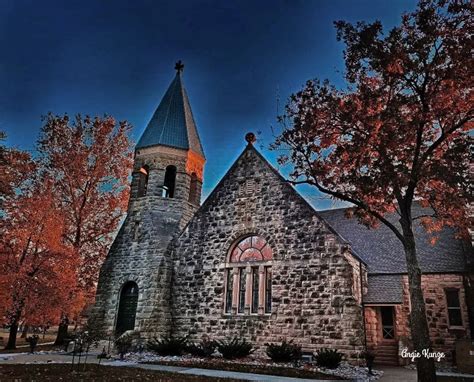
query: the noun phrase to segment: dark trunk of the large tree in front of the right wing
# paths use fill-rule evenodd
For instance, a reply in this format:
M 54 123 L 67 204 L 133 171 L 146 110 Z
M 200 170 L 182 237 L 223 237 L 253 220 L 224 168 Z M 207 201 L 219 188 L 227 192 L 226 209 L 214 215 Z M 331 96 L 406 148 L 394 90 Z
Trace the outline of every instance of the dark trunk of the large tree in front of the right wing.
M 425 300 L 421 289 L 421 269 L 418 265 L 415 237 L 411 226 L 411 218 L 400 219 L 404 250 L 407 262 L 408 285 L 410 290 L 411 314 L 410 329 L 414 349 L 421 354 L 417 358 L 416 369 L 419 382 L 436 382 L 436 368 L 433 358 L 423 356 L 423 350 L 431 351 L 430 333 L 426 320 Z

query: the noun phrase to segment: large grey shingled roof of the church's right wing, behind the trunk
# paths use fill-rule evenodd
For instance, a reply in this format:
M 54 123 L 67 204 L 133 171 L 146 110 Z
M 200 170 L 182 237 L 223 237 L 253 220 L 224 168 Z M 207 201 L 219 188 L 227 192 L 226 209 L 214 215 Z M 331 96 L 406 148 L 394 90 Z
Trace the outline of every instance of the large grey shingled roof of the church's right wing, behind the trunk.
M 354 218 L 345 217 L 345 208 L 319 211 L 319 215 L 345 240 L 354 252 L 367 263 L 369 274 L 406 273 L 405 253 L 401 242 L 393 232 L 381 224 L 377 229 L 368 229 Z M 413 208 L 413 216 L 426 213 L 419 205 Z M 398 215 L 387 216 L 395 225 Z M 420 267 L 424 273 L 449 273 L 465 270 L 465 247 L 455 238 L 454 231 L 446 228 L 436 233 L 438 241 L 430 243 L 431 234 L 414 222 Z

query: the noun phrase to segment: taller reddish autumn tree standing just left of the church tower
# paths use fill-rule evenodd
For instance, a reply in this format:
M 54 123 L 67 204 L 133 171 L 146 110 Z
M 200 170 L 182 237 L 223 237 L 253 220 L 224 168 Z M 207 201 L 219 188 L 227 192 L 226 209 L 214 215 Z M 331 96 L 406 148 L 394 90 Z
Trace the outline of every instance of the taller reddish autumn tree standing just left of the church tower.
M 128 123 L 108 116 L 44 118 L 38 144 L 41 168 L 54 179 L 56 202 L 65 217 L 64 240 L 80 262 L 71 296 L 85 293 L 86 302 L 94 297 L 100 266 L 126 211 L 132 166 L 129 132 Z M 67 334 L 69 318 L 66 309 L 57 344 Z

